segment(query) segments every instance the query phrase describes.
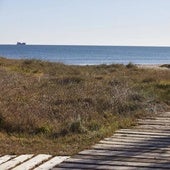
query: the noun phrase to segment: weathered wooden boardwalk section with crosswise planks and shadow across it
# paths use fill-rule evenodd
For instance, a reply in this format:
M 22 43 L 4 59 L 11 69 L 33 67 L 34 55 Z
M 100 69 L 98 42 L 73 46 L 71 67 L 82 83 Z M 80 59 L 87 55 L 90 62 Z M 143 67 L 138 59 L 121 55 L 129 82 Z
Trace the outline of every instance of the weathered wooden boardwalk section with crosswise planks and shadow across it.
M 53 168 L 59 169 L 170 169 L 170 112 L 139 120 L 133 129 L 118 130 Z

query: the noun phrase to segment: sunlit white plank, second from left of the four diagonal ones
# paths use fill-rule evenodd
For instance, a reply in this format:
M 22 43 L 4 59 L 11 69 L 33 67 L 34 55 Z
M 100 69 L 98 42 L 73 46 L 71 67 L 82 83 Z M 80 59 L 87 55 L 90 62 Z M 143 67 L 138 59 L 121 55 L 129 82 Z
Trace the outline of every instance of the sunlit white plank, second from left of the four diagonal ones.
M 20 155 L 18 157 L 15 157 L 14 159 L 5 162 L 0 165 L 0 169 L 10 169 L 15 167 L 16 165 L 26 161 L 27 159 L 31 158 L 33 155 Z

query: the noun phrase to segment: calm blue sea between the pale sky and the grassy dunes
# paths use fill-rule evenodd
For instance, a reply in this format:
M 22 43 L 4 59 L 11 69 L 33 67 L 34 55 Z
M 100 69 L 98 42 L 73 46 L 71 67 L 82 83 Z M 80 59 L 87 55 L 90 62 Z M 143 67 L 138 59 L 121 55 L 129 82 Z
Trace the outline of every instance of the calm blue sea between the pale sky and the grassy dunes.
M 73 65 L 170 64 L 170 47 L 0 45 L 0 56 Z

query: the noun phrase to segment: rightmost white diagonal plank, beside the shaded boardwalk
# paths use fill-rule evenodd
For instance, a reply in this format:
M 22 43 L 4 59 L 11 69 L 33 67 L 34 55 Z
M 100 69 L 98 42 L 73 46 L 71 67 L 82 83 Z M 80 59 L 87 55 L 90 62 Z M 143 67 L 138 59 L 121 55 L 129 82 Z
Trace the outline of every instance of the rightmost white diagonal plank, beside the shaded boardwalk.
M 35 168 L 34 170 L 49 170 L 68 158 L 69 158 L 68 156 L 56 156 L 50 159 L 49 161 L 43 163 L 39 167 Z

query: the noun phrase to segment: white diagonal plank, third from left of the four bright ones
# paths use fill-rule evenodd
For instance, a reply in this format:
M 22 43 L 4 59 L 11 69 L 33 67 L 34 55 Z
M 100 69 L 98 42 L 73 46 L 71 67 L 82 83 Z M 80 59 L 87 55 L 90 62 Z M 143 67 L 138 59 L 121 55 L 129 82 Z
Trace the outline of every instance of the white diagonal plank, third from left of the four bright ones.
M 46 154 L 39 154 L 32 159 L 24 162 L 21 165 L 18 165 L 17 167 L 13 168 L 12 170 L 29 170 L 34 168 L 36 165 L 42 163 L 43 161 L 49 159 L 51 155 L 46 155 Z

